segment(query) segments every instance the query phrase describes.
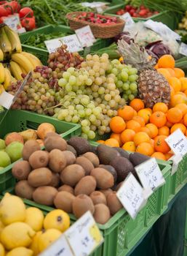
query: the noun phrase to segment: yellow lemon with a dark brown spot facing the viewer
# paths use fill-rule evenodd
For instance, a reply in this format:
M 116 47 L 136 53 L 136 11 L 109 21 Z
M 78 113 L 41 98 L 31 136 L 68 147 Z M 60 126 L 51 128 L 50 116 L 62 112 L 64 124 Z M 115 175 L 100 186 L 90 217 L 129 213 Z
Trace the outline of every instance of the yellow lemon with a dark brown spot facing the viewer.
M 53 210 L 46 215 L 44 219 L 44 228 L 55 228 L 64 232 L 70 226 L 70 218 L 63 210 Z

